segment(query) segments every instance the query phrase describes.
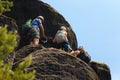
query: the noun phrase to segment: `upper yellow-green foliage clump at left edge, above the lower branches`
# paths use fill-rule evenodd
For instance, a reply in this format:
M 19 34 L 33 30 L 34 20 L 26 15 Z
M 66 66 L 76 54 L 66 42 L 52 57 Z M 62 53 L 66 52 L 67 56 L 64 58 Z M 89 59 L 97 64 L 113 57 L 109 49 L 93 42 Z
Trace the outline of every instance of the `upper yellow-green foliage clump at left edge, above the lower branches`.
M 11 32 L 6 33 L 6 27 L 0 27 L 0 59 L 4 57 L 4 54 L 12 52 L 16 45 L 16 36 Z

